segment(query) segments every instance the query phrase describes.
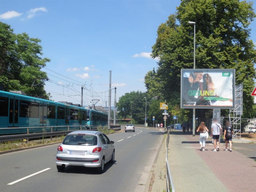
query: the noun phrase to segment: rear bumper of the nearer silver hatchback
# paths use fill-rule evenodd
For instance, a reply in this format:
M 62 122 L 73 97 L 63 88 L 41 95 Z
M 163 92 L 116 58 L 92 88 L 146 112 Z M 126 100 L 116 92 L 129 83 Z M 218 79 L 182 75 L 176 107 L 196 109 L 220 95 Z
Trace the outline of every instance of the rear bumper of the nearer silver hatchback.
M 98 161 L 92 162 L 93 160 L 98 160 Z M 60 165 L 60 166 L 65 164 L 66 166 L 73 165 L 73 166 L 84 166 L 84 167 L 100 167 L 101 157 L 77 158 L 77 157 L 56 156 L 55 163 L 56 165 Z

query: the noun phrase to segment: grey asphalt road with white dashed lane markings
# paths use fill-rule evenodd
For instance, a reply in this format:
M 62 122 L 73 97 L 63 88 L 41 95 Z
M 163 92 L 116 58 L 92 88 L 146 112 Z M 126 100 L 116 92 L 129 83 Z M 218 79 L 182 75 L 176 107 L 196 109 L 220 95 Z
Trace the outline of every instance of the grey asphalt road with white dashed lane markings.
M 157 130 L 136 128 L 135 133 L 108 135 L 115 141 L 115 163 L 105 164 L 102 174 L 92 168 L 74 166 L 58 172 L 55 164 L 58 144 L 0 155 L 0 191 L 134 191 L 162 134 Z M 27 176 L 30 177 L 20 180 Z

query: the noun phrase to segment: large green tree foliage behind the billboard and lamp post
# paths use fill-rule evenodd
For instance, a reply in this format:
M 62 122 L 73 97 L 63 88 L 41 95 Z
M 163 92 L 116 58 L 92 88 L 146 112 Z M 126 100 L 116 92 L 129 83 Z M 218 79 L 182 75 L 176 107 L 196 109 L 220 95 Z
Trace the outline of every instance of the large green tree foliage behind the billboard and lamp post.
M 180 69 L 193 68 L 194 27 L 188 21 L 194 21 L 196 68 L 236 69 L 236 84 L 244 85 L 244 117 L 255 117 L 250 94 L 256 77 L 256 51 L 248 28 L 254 17 L 251 2 L 182 0 L 177 12 L 158 27 L 152 57 L 160 58 L 159 67 L 145 76 L 148 92 L 179 105 Z

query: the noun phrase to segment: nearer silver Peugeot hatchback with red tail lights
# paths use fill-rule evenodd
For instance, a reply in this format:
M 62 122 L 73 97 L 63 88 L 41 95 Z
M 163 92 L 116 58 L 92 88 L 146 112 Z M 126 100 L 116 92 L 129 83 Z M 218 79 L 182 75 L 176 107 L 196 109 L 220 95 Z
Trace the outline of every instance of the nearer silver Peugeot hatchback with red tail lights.
M 115 161 L 114 141 L 102 132 L 74 131 L 69 133 L 57 149 L 56 165 L 63 171 L 69 165 L 95 167 L 99 173 L 104 164 Z

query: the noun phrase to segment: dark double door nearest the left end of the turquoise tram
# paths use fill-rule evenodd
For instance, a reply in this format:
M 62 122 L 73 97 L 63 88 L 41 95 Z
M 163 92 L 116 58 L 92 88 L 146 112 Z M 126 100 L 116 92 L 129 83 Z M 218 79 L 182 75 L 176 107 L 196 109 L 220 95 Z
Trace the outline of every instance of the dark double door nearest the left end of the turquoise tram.
M 9 124 L 8 127 L 19 127 L 19 97 L 9 96 Z

